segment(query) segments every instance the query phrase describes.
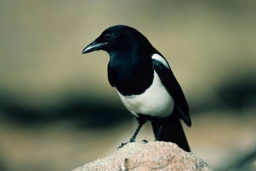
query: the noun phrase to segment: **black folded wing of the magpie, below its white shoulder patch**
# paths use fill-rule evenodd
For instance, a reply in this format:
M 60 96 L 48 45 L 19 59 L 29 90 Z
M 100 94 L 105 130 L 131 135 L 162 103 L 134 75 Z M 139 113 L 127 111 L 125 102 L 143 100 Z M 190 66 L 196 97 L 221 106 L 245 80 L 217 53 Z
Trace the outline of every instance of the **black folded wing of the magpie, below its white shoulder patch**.
M 164 59 L 163 59 L 164 60 Z M 167 61 L 164 60 L 166 63 Z M 174 73 L 172 73 L 171 69 L 166 66 L 166 63 L 156 59 L 152 59 L 153 68 L 155 72 L 158 74 L 162 84 L 166 87 L 172 98 L 174 98 L 174 102 L 177 107 L 177 111 L 179 112 L 179 116 L 184 122 L 190 127 L 191 119 L 189 117 L 189 109 L 188 103 L 185 99 L 183 91 L 177 82 Z M 167 63 L 168 64 L 168 63 Z

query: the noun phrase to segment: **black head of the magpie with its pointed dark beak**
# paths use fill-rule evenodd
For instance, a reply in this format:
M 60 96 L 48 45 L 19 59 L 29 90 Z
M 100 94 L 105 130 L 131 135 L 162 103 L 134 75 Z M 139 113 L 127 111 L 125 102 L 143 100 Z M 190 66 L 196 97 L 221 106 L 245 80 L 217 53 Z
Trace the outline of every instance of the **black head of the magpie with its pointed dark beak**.
M 124 52 L 149 44 L 139 31 L 129 26 L 117 25 L 107 28 L 102 34 L 84 48 L 82 54 L 104 50 L 108 53 Z

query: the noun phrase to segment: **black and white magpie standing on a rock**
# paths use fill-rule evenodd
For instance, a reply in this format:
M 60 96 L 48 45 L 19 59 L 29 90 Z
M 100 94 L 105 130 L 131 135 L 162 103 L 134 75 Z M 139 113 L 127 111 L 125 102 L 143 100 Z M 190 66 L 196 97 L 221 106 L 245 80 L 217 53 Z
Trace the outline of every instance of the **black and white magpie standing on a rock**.
M 188 104 L 163 55 L 141 32 L 123 25 L 107 28 L 82 54 L 99 50 L 110 56 L 110 85 L 115 87 L 127 110 L 138 119 L 139 126 L 129 142 L 135 141 L 143 124 L 150 120 L 156 141 L 172 142 L 190 152 L 180 123 L 183 119 L 191 126 Z

